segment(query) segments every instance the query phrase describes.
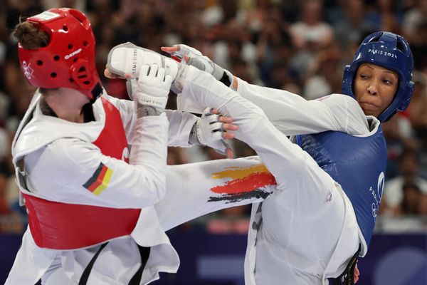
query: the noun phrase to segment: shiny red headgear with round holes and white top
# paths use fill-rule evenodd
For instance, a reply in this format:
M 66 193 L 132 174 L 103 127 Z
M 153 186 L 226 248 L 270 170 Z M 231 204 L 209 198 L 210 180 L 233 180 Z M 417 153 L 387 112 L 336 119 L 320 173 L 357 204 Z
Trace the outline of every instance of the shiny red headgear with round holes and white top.
M 68 87 L 94 102 L 102 93 L 95 67 L 95 37 L 86 16 L 75 9 L 50 9 L 26 21 L 46 31 L 48 46 L 26 49 L 19 61 L 29 83 L 41 88 Z

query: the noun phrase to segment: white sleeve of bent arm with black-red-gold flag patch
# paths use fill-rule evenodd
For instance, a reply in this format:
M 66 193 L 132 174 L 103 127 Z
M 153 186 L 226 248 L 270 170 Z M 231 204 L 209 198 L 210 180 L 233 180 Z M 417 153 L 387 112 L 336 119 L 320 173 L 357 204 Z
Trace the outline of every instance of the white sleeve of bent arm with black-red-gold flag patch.
M 90 142 L 56 140 L 26 155 L 28 188 L 58 202 L 116 208 L 155 204 L 166 191 L 167 128 L 166 115 L 139 118 L 130 164 L 102 155 Z M 97 174 L 100 167 L 109 176 Z M 97 185 L 102 187 L 94 191 Z

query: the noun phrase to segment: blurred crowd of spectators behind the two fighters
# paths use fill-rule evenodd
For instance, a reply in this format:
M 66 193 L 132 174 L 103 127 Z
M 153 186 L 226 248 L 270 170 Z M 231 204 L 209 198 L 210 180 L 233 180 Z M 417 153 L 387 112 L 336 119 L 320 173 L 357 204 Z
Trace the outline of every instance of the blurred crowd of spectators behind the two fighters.
M 427 0 L 1 0 L 0 232 L 26 227 L 11 140 L 34 92 L 21 73 L 11 31 L 53 7 L 80 9 L 89 17 L 100 74 L 119 43 L 154 51 L 185 43 L 249 83 L 307 99 L 341 93 L 344 66 L 369 33 L 403 35 L 413 51 L 416 88 L 408 109 L 383 125 L 389 160 L 376 231 L 427 232 Z M 110 95 L 127 98 L 123 81 L 101 78 Z M 236 157 L 254 155 L 241 142 L 233 146 Z M 206 147 L 170 147 L 168 163 L 219 158 Z M 249 212 L 250 206 L 225 209 L 176 230 L 246 234 Z

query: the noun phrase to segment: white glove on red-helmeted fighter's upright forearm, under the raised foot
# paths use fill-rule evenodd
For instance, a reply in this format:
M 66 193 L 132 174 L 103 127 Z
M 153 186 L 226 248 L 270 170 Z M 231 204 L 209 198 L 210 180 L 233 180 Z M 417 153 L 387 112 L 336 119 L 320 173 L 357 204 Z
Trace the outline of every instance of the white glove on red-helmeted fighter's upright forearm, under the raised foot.
M 138 78 L 128 82 L 128 93 L 137 105 L 137 117 L 144 115 L 159 115 L 166 107 L 172 78 L 164 75 L 164 68 L 157 64 L 144 65 L 139 71 Z

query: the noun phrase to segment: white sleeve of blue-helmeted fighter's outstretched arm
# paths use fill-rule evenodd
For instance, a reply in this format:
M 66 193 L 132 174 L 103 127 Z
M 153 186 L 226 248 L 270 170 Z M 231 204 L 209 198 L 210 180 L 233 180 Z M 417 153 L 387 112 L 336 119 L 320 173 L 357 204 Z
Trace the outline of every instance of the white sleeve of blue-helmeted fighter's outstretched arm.
M 255 86 L 241 79 L 238 79 L 237 92 L 260 107 L 285 135 L 326 130 L 363 135 L 369 130 L 362 108 L 347 95 L 332 94 L 317 100 L 305 100 L 285 90 Z

